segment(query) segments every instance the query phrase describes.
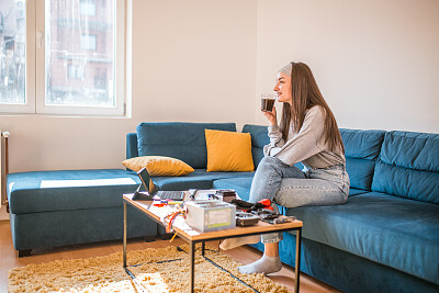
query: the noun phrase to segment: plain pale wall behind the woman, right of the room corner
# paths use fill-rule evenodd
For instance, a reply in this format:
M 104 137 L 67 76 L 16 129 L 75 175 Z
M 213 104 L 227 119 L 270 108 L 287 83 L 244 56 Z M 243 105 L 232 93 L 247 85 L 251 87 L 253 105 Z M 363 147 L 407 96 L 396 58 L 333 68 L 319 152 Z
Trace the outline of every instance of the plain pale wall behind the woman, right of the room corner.
M 439 133 L 437 0 L 259 0 L 257 55 L 258 93 L 301 60 L 340 127 Z

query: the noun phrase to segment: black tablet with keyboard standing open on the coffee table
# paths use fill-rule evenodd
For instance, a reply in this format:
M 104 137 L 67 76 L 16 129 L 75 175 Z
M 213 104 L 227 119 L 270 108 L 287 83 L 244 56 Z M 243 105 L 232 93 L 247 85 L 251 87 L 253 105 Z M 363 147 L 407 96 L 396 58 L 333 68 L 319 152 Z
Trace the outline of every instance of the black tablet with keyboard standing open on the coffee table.
M 154 198 L 159 198 L 160 200 L 173 200 L 173 201 L 182 201 L 184 200 L 184 191 L 170 191 L 170 190 L 158 190 L 156 184 L 154 184 L 153 180 L 149 177 L 146 168 L 142 168 L 137 172 L 138 178 L 140 178 L 140 185 L 137 188 L 133 200 L 140 201 L 151 201 Z M 146 192 L 139 192 L 140 188 L 144 187 Z M 146 194 L 145 194 L 146 193 Z

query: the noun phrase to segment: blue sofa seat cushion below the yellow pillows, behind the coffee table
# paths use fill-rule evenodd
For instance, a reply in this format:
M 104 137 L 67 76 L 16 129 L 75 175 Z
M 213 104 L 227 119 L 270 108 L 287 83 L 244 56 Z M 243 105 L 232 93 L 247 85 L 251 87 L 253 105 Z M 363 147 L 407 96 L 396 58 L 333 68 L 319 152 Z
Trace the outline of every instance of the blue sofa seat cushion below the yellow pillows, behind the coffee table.
M 206 169 L 195 169 L 190 174 L 181 177 L 153 177 L 160 190 L 211 189 L 213 182 L 226 178 L 252 178 L 255 172 L 207 172 Z

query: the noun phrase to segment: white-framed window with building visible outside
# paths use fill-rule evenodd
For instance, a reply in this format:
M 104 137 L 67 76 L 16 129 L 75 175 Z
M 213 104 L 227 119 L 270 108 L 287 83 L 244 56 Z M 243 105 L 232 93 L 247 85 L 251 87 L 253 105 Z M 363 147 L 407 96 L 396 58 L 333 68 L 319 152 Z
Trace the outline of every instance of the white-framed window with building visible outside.
M 1 0 L 0 112 L 124 114 L 125 1 Z

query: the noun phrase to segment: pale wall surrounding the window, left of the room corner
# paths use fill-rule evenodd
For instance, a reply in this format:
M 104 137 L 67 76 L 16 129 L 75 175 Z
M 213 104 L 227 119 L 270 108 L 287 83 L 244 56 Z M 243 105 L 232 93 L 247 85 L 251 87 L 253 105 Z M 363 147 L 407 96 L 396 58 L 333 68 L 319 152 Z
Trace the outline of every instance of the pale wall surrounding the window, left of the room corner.
M 130 119 L 0 115 L 10 172 L 122 168 L 146 121 L 254 121 L 256 2 L 134 0 Z

